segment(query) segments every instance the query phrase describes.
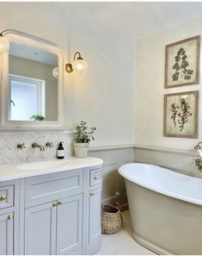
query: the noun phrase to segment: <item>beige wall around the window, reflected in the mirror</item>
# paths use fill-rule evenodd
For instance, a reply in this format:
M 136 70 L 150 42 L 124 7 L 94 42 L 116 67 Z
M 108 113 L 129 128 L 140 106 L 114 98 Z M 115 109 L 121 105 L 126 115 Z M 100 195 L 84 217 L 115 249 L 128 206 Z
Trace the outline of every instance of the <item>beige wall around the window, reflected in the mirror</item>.
M 54 67 L 30 59 L 9 56 L 9 73 L 46 81 L 45 112 L 46 120 L 51 121 L 58 120 L 58 80 L 52 76 Z

